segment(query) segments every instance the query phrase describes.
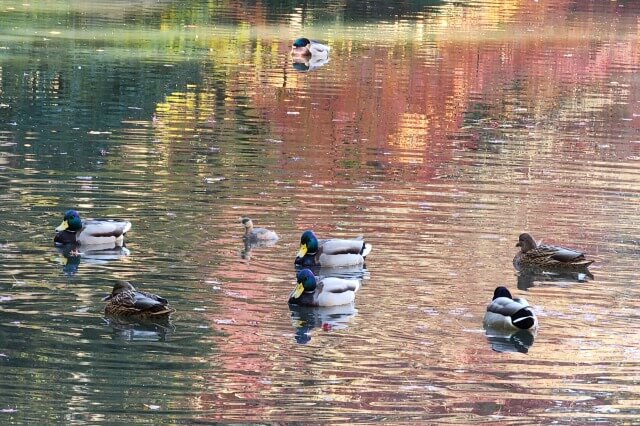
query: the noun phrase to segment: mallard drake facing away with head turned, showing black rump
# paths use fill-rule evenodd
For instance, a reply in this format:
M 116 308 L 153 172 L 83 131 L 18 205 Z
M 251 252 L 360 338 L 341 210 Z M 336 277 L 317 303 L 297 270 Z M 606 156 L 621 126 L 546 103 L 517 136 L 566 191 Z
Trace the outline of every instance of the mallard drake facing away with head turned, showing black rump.
M 502 330 L 535 330 L 538 319 L 524 298 L 513 298 L 506 287 L 496 287 L 487 306 L 485 328 Z

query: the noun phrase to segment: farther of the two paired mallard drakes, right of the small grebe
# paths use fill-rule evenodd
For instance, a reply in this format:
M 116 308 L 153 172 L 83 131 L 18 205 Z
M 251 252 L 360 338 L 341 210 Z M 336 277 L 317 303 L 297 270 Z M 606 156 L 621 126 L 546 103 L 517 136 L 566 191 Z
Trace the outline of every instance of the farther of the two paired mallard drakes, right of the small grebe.
M 304 231 L 294 263 L 304 267 L 323 268 L 362 265 L 372 248 L 362 237 L 319 241 L 313 231 Z

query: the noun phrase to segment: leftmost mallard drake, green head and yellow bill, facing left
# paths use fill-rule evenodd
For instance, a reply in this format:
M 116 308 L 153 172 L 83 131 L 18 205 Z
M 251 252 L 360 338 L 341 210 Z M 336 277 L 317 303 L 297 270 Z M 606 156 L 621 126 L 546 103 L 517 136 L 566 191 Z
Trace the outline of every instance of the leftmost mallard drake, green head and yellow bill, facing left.
M 124 243 L 124 235 L 131 229 L 126 220 L 82 220 L 75 210 L 67 210 L 53 241 L 56 244 L 116 244 Z

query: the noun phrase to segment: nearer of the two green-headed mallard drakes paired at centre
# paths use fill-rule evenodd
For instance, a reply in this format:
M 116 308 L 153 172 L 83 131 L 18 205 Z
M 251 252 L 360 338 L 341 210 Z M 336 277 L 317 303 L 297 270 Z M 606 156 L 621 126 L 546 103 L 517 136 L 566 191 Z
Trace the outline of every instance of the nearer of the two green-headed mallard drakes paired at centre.
M 298 284 L 289 294 L 289 304 L 298 306 L 338 306 L 352 303 L 359 280 L 325 277 L 320 280 L 309 269 L 296 275 Z

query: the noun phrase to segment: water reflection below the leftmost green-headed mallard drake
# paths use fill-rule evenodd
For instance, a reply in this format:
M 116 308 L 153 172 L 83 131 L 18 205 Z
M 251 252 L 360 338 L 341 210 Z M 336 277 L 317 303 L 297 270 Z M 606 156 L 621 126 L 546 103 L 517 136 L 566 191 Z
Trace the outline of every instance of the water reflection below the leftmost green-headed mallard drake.
M 131 252 L 125 246 L 115 243 L 83 245 L 64 244 L 56 247 L 58 253 L 62 255 L 58 258 L 58 263 L 62 265 L 65 275 L 75 275 L 80 267 L 80 262 L 103 265 L 113 260 L 119 260 L 129 256 Z

